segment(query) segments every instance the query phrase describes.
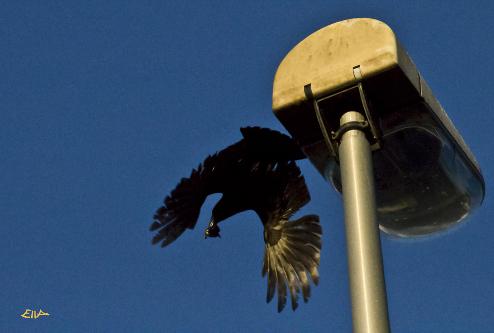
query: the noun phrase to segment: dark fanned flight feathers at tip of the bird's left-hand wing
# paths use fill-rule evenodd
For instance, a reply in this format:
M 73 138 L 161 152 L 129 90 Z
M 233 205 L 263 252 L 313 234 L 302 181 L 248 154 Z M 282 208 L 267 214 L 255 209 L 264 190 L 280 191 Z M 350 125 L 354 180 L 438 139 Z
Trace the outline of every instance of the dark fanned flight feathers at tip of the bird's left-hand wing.
M 189 178 L 182 178 L 171 194 L 164 200 L 164 206 L 154 215 L 156 220 L 151 225 L 151 231 L 160 231 L 153 238 L 152 243 L 161 241 L 162 248 L 172 243 L 185 229 L 193 229 L 196 225 L 201 206 L 206 200 L 206 194 L 201 186 L 201 164 L 192 170 Z

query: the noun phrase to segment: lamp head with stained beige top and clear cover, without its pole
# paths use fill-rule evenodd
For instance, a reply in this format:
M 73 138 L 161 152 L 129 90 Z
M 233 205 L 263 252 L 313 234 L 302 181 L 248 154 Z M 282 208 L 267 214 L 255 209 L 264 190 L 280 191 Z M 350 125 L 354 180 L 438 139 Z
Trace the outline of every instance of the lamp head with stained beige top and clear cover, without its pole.
M 377 218 L 400 237 L 441 232 L 478 208 L 480 167 L 412 59 L 384 23 L 331 24 L 280 64 L 273 112 L 341 193 L 338 128 L 356 111 L 372 147 Z

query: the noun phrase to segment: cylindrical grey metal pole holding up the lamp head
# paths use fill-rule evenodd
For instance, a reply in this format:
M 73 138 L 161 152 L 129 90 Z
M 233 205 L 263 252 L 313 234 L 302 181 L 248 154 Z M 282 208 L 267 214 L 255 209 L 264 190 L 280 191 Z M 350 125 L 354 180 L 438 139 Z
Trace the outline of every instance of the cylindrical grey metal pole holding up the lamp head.
M 345 113 L 340 125 L 361 122 Z M 371 145 L 360 129 L 350 129 L 339 146 L 353 332 L 390 332 L 381 240 L 376 216 Z

